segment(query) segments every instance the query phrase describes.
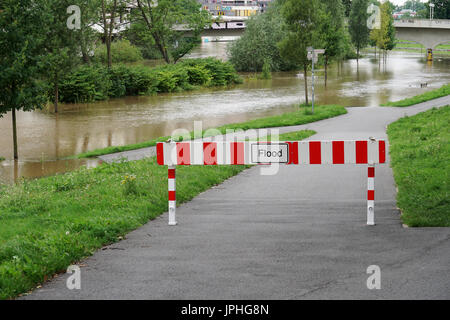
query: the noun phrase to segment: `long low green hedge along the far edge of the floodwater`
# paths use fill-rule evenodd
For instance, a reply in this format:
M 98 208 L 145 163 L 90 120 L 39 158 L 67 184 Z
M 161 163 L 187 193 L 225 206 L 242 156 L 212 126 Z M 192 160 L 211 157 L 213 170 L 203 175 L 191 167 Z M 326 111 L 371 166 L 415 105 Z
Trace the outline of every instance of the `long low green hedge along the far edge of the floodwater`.
M 83 66 L 60 82 L 61 102 L 90 102 L 157 92 L 190 90 L 194 86 L 222 86 L 242 82 L 234 67 L 217 59 L 185 60 L 176 65 Z

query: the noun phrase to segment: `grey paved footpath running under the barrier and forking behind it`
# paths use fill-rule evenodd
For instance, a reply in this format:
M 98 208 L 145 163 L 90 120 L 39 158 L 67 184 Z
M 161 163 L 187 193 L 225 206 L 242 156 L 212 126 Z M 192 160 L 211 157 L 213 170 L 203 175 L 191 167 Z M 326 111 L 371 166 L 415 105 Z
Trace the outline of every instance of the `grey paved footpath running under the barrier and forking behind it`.
M 310 139 L 387 138 L 404 115 L 450 104 L 349 113 L 281 132 Z M 366 166 L 253 167 L 99 250 L 82 263 L 81 290 L 66 275 L 25 299 L 449 299 L 450 228 L 403 228 L 389 165 L 376 168 L 375 219 L 366 223 Z M 381 289 L 366 286 L 370 265 Z

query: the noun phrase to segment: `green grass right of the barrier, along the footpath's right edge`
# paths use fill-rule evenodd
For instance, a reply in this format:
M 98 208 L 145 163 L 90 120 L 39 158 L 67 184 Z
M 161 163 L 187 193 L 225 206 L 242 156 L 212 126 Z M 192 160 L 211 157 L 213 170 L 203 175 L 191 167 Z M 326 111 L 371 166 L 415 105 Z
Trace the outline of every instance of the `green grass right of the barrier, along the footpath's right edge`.
M 410 227 L 450 227 L 450 106 L 388 127 L 397 205 Z

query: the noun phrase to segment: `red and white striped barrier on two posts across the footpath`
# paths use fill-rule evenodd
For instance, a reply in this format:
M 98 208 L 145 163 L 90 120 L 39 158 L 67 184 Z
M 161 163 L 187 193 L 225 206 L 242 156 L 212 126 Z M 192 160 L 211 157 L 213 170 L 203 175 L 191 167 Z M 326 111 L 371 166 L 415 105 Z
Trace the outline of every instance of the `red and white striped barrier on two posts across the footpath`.
M 169 166 L 169 224 L 176 225 L 177 165 L 368 165 L 367 224 L 374 225 L 375 164 L 386 162 L 384 140 L 293 142 L 170 142 L 156 146 L 157 162 Z

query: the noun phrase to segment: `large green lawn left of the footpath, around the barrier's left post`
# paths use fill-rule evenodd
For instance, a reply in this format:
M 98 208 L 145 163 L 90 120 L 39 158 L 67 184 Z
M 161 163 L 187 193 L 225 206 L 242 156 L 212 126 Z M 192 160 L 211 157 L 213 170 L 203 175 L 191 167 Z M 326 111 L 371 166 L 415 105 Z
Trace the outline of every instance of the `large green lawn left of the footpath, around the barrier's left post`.
M 314 131 L 280 135 L 298 140 Z M 179 166 L 177 203 L 249 166 Z M 0 184 L 0 299 L 16 297 L 167 211 L 155 158 Z

